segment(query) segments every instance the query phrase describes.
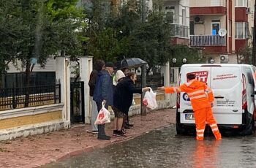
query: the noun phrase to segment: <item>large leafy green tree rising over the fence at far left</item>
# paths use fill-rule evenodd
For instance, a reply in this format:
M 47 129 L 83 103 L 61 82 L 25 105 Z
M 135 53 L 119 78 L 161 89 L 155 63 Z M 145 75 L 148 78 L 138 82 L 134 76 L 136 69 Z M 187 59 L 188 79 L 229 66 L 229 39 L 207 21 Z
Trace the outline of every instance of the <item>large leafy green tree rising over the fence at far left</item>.
M 0 56 L 6 69 L 8 62 L 20 60 L 26 68 L 26 86 L 33 70 L 31 58 L 42 66 L 50 55 L 65 50 L 78 56 L 86 40 L 77 30 L 85 25 L 83 11 L 76 8 L 77 0 L 3 0 L 0 11 Z M 28 106 L 29 91 L 26 91 Z

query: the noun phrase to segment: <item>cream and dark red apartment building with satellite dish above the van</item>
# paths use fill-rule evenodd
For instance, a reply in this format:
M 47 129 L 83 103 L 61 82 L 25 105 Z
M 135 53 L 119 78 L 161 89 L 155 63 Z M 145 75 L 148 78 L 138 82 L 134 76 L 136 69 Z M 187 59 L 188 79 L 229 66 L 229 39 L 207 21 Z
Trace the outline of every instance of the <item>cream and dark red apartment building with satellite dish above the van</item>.
M 238 63 L 238 51 L 252 43 L 253 17 L 253 0 L 190 0 L 190 45 L 208 61 Z

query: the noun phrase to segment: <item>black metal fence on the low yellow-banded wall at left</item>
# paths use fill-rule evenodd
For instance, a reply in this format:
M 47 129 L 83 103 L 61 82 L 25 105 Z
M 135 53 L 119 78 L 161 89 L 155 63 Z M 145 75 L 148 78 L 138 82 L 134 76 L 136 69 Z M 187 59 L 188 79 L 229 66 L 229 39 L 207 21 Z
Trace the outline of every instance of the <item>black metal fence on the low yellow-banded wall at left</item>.
M 0 111 L 61 102 L 61 84 L 0 88 Z

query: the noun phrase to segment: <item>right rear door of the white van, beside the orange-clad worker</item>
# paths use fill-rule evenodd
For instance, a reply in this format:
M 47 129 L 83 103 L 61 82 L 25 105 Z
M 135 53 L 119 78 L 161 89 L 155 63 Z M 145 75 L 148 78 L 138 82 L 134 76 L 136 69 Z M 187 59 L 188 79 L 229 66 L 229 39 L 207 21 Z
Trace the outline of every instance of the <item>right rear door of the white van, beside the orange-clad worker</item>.
M 243 83 L 241 67 L 211 67 L 211 85 L 214 91 L 214 116 L 220 124 L 241 124 Z M 232 118 L 230 117 L 232 115 Z

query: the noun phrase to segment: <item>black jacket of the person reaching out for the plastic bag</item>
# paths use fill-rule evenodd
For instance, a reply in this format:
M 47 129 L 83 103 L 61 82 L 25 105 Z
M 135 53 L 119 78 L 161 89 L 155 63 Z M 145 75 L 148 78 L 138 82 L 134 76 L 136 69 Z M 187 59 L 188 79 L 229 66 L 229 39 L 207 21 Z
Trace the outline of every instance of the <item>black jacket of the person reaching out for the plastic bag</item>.
M 142 93 L 142 89 L 135 88 L 135 85 L 128 77 L 124 78 L 116 85 L 114 93 L 114 107 L 121 112 L 128 114 L 129 107 L 132 105 L 133 93 Z

